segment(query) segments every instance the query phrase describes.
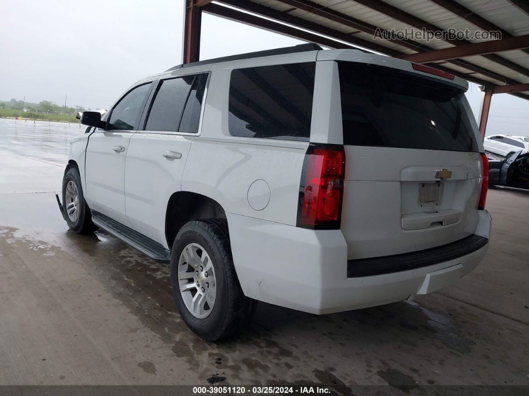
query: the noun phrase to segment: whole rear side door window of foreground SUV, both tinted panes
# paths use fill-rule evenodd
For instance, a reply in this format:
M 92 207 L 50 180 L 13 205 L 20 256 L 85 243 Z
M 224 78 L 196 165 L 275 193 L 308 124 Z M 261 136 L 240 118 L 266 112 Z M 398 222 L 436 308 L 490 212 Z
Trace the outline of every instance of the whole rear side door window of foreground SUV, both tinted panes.
M 145 130 L 197 133 L 207 73 L 162 80 Z

